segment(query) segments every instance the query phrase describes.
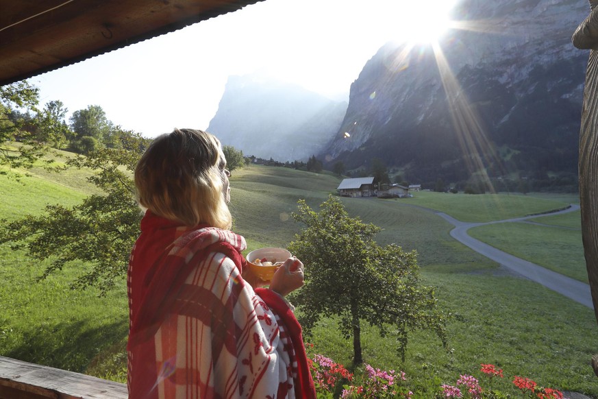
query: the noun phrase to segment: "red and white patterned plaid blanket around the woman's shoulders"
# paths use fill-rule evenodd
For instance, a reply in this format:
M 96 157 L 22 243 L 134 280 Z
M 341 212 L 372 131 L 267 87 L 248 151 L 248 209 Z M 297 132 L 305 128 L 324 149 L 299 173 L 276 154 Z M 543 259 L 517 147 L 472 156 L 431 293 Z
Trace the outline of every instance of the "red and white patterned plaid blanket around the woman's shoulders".
M 241 277 L 245 239 L 152 215 L 129 262 L 129 398 L 315 398 L 301 326 Z

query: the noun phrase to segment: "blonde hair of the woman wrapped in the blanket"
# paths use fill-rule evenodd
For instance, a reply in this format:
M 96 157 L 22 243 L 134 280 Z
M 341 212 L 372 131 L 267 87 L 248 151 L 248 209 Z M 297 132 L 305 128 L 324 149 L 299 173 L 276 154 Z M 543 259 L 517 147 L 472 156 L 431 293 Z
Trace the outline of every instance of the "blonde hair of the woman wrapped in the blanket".
M 231 228 L 220 154 L 220 141 L 208 132 L 175 129 L 158 136 L 135 169 L 139 204 L 185 226 Z

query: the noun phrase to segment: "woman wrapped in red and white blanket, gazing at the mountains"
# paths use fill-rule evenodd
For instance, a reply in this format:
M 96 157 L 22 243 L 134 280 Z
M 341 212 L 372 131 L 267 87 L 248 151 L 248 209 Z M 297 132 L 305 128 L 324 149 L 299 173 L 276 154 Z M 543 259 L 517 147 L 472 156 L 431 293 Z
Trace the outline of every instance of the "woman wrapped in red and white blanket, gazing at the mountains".
M 315 398 L 287 259 L 251 273 L 232 217 L 221 144 L 201 130 L 151 143 L 135 171 L 147 208 L 129 261 L 129 398 Z M 262 288 L 260 285 L 269 285 Z

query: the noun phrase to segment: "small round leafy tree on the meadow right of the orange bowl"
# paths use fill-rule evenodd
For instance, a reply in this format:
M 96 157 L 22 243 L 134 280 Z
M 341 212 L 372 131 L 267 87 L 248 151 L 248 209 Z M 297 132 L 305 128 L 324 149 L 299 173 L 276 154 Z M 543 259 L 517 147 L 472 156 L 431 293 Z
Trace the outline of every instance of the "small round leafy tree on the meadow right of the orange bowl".
M 288 246 L 308 265 L 306 285 L 293 294 L 306 335 L 321 317 L 339 317 L 342 334 L 353 337 L 355 365 L 363 361 L 362 321 L 377 326 L 383 337 L 396 335 L 403 359 L 408 330 L 434 330 L 446 344 L 443 315 L 434 289 L 419 282 L 416 253 L 377 245 L 372 237 L 380 228 L 349 217 L 332 195 L 320 207 L 316 213 L 299 201 L 293 217 L 307 227 Z

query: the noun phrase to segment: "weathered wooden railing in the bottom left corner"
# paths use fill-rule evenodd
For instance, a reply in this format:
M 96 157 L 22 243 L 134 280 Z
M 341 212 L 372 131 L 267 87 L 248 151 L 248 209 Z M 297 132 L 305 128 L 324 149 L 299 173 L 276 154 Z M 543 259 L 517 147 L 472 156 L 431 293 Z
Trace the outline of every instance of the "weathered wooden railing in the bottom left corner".
M 127 385 L 0 356 L 0 399 L 126 399 Z

